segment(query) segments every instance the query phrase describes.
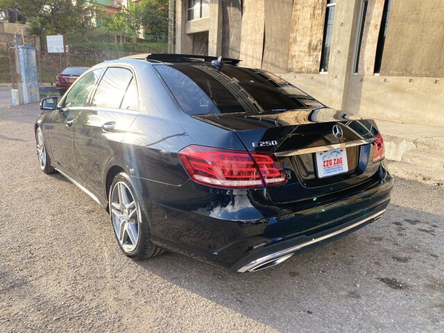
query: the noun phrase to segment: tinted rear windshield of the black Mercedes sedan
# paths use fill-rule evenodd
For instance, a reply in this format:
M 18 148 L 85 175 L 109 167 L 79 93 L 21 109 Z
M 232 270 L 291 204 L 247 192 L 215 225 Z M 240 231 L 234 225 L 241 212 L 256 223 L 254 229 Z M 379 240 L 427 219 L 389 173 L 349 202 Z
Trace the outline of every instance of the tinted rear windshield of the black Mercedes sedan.
M 259 69 L 211 65 L 156 65 L 187 114 L 261 113 L 323 108 L 300 89 Z

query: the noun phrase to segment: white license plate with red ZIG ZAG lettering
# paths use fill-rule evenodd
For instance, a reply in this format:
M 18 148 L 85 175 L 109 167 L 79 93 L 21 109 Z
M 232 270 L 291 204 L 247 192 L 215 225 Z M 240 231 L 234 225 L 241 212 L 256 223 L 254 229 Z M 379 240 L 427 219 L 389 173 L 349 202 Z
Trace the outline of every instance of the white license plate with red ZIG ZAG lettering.
M 345 148 L 331 151 L 316 152 L 316 165 L 318 177 L 324 178 L 348 171 L 347 151 Z

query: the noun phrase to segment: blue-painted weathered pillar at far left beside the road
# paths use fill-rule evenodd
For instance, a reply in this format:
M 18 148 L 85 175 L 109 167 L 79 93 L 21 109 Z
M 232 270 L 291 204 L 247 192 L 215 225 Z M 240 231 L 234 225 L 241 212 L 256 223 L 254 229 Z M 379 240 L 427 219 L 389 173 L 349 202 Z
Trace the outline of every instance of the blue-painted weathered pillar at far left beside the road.
M 40 100 L 35 50 L 35 46 L 31 45 L 14 47 L 15 69 L 17 71 L 17 84 L 19 87 L 19 105 Z

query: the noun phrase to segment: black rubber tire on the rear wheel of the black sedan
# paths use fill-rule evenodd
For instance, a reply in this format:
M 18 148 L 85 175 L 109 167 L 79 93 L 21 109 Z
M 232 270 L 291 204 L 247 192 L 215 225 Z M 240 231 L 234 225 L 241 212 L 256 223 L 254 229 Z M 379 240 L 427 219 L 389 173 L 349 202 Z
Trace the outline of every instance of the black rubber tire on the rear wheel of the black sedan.
M 117 236 L 117 230 L 114 227 L 113 222 L 113 212 L 112 210 L 115 209 L 115 207 L 112 206 L 112 202 L 115 202 L 115 200 L 112 200 L 113 198 L 113 190 L 117 190 L 117 186 L 120 182 L 123 182 L 126 187 L 130 190 L 130 194 L 134 198 L 134 202 L 136 205 L 137 210 L 137 217 L 138 217 L 138 239 L 137 239 L 137 245 L 135 246 L 135 249 L 133 250 L 126 250 L 123 248 L 123 245 L 121 244 L 121 241 L 119 240 L 119 237 Z M 114 197 L 115 198 L 115 197 Z M 135 186 L 133 180 L 126 174 L 126 173 L 119 173 L 117 176 L 114 177 L 114 180 L 112 181 L 112 185 L 110 187 L 110 195 L 108 198 L 108 206 L 110 208 L 110 220 L 113 225 L 114 230 L 114 237 L 117 240 L 117 244 L 119 244 L 119 247 L 121 248 L 122 252 L 127 256 L 130 257 L 133 260 L 144 260 L 151 257 L 155 257 L 156 255 L 160 255 L 161 253 L 164 253 L 164 249 L 160 248 L 159 246 L 156 246 L 151 241 L 151 231 L 148 225 L 148 216 L 146 214 L 146 210 L 144 209 L 144 203 L 141 200 L 141 197 L 139 195 L 139 191 L 137 187 Z M 114 216 L 115 217 L 115 216 Z

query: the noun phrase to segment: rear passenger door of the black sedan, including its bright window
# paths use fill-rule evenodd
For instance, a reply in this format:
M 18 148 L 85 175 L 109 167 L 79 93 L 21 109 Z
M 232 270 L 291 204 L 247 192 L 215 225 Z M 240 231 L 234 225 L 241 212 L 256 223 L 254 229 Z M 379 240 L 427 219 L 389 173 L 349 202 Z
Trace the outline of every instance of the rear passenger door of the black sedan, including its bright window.
M 105 198 L 105 167 L 137 117 L 137 83 L 129 68 L 108 67 L 91 104 L 76 120 L 74 150 L 80 178 Z

